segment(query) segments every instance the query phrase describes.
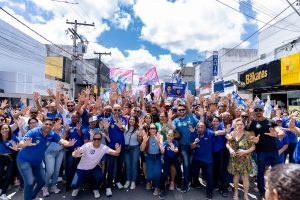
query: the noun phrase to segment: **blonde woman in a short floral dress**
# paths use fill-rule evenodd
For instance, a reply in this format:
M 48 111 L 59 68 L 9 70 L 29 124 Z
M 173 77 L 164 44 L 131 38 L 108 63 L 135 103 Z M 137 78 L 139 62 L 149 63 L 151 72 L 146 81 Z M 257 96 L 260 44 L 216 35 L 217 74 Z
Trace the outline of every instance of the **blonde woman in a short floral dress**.
M 230 133 L 226 147 L 230 152 L 230 161 L 228 172 L 232 174 L 234 182 L 233 199 L 238 198 L 239 178 L 242 176 L 244 187 L 244 200 L 248 200 L 249 175 L 253 171 L 251 162 L 251 152 L 255 150 L 255 145 L 251 141 L 250 133 L 245 131 L 245 125 L 242 119 L 238 118 L 234 122 L 234 131 Z

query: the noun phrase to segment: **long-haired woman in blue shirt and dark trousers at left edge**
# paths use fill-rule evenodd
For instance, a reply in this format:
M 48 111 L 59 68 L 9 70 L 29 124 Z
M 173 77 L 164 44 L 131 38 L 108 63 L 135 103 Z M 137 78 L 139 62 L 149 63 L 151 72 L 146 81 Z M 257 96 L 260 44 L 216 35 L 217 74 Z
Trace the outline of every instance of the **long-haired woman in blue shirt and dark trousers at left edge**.
M 0 199 L 7 200 L 6 192 L 14 174 L 19 140 L 7 124 L 0 125 L 0 133 Z

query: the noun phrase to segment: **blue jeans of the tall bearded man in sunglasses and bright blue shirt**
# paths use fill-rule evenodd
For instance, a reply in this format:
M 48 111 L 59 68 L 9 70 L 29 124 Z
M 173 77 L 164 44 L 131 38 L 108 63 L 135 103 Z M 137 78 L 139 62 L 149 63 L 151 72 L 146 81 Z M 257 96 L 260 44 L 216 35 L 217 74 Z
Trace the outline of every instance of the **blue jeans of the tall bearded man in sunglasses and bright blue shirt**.
M 181 145 L 180 152 L 183 159 L 183 188 L 187 188 L 190 182 L 190 163 L 191 147 L 190 145 Z

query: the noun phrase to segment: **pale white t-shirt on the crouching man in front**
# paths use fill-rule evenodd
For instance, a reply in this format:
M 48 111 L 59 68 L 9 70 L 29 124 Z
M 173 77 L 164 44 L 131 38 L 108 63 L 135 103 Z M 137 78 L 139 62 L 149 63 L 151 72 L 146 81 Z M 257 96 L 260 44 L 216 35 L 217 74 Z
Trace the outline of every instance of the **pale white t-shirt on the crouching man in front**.
M 102 159 L 102 157 L 108 153 L 110 148 L 101 144 L 99 148 L 93 146 L 93 142 L 85 143 L 81 146 L 81 152 L 83 153 L 77 169 L 90 170 L 94 169 Z

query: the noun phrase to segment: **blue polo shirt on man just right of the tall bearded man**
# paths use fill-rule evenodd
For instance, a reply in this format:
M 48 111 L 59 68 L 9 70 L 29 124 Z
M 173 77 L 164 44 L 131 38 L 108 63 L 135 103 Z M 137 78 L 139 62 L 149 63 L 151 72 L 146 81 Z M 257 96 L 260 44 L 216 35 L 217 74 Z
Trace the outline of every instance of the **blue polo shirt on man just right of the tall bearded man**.
M 199 143 L 194 149 L 193 159 L 205 163 L 213 163 L 213 140 L 215 134 L 213 131 L 206 129 L 202 136 L 197 132 L 191 134 L 190 142 L 193 143 L 196 138 L 199 138 Z

